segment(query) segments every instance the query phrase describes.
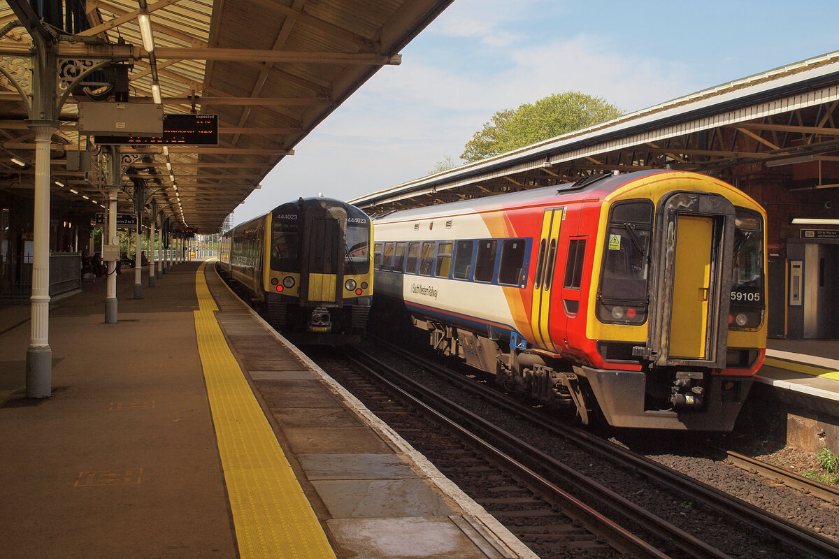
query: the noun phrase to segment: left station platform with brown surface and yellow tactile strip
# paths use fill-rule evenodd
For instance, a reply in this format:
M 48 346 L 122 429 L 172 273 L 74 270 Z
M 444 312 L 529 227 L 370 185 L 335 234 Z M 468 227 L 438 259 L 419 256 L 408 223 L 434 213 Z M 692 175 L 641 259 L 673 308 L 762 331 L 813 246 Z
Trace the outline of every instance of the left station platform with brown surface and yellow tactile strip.
M 184 262 L 0 307 L 0 557 L 534 557 L 296 348 Z

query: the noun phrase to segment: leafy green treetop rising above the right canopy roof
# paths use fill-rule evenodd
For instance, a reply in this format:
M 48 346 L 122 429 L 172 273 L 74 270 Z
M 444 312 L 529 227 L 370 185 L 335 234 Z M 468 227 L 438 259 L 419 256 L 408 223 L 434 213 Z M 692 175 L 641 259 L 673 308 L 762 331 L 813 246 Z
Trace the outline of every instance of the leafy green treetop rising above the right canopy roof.
M 483 130 L 475 132 L 472 140 L 466 142 L 461 158 L 478 161 L 622 114 L 623 111 L 602 97 L 579 91 L 557 93 L 533 104 L 524 103 L 518 109 L 496 112 L 483 125 Z

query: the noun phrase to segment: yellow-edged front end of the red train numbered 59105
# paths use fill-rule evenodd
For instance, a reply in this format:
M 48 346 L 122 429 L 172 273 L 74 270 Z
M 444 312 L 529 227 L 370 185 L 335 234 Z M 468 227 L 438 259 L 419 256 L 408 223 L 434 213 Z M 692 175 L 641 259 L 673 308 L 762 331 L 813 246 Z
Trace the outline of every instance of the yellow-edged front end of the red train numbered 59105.
M 713 184 L 669 187 L 657 207 L 648 185 L 603 212 L 587 328 L 603 359 L 575 369 L 611 425 L 730 431 L 763 362 L 765 218 Z

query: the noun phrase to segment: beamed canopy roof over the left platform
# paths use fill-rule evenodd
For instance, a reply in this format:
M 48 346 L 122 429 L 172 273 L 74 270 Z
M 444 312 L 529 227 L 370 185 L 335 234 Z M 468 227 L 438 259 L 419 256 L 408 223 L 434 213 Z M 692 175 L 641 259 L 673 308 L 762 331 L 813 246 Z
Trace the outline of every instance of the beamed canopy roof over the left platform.
M 450 3 L 64 0 L 39 3 L 44 13 L 35 13 L 28 0 L 7 0 L 0 4 L 0 189 L 34 196 L 35 134 L 27 121 L 39 116 L 29 114 L 37 94 L 30 53 L 46 41 L 57 54 L 46 64 L 50 71 L 55 66 L 55 95 L 65 98 L 51 145 L 54 210 L 84 219 L 102 212 L 107 179 L 100 154 L 109 142 L 125 141 L 80 129 L 79 107 L 154 105 L 159 95 L 175 132 L 190 115 L 199 127 L 213 120 L 217 143 L 121 145 L 118 211 L 133 211 L 139 184 L 171 220 L 216 233 L 353 91 L 383 65 L 399 65 L 399 50 Z M 143 19 L 153 44 L 143 44 Z

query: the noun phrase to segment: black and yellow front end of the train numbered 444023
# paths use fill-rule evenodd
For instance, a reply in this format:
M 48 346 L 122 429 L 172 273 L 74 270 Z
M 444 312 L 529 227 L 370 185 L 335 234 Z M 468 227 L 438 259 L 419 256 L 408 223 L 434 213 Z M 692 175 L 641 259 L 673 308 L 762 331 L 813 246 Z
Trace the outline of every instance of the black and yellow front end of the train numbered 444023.
M 373 292 L 367 215 L 335 200 L 305 199 L 279 206 L 271 223 L 271 322 L 299 344 L 360 341 Z

